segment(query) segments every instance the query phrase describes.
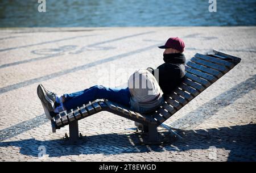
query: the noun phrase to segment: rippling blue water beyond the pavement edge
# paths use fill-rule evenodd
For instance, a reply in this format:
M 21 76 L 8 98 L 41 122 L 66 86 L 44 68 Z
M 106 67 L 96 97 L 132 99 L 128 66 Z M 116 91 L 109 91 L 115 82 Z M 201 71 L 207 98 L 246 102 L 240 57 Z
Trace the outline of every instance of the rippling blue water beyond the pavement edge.
M 0 27 L 255 26 L 256 0 L 0 0 Z

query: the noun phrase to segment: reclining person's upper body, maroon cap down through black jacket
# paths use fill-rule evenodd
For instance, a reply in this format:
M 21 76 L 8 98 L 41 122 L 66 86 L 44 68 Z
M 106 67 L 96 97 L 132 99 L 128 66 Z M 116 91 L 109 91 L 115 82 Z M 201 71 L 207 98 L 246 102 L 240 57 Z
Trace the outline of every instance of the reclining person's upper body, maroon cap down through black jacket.
M 158 83 L 163 93 L 170 93 L 179 85 L 185 76 L 185 56 L 183 54 L 185 44 L 179 37 L 171 37 L 166 44 L 159 47 L 163 52 L 164 64 L 158 66 Z M 154 69 L 148 67 L 154 74 Z

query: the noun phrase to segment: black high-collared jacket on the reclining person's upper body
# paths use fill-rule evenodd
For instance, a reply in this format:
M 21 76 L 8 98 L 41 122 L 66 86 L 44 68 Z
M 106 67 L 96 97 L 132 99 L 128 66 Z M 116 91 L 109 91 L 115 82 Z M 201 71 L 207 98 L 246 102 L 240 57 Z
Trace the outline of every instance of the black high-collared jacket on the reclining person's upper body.
M 159 70 L 159 86 L 168 94 L 175 89 L 185 75 L 185 56 L 182 53 L 164 54 L 164 64 L 157 67 Z M 154 70 L 155 71 L 157 70 Z

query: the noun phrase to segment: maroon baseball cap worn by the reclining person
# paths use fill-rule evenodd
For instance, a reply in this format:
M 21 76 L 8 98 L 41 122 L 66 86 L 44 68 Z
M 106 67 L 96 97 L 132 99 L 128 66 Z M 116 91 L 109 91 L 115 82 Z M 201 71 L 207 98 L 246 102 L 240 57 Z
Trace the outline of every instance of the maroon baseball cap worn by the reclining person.
M 180 52 L 183 52 L 185 48 L 185 44 L 184 44 L 184 41 L 181 40 L 179 37 L 171 37 L 166 41 L 165 45 L 162 45 L 159 48 L 160 49 L 172 48 L 175 50 L 179 50 Z

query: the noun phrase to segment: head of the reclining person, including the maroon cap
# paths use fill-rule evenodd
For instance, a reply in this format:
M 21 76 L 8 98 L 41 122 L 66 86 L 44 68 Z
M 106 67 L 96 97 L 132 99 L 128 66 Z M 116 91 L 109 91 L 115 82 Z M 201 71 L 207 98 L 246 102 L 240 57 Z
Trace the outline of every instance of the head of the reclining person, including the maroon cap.
M 183 53 L 185 49 L 185 44 L 182 39 L 179 37 L 171 37 L 166 41 L 165 45 L 159 47 L 164 50 L 163 54 L 171 54 L 171 53 Z

